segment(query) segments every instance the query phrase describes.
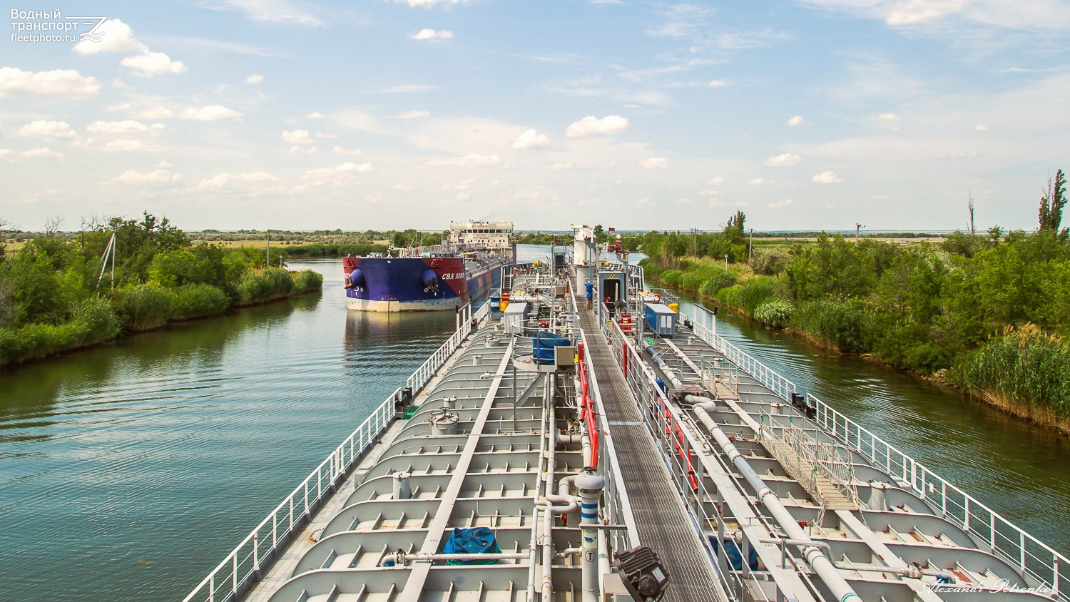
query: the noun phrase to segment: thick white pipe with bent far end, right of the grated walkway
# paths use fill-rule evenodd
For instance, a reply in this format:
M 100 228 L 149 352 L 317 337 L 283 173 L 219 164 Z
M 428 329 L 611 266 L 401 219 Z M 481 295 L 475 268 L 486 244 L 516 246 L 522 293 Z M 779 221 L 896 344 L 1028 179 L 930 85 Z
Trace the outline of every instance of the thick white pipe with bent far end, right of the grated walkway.
M 802 527 L 799 526 L 798 522 L 792 516 L 792 513 L 784 508 L 784 505 L 780 503 L 780 498 L 777 494 L 773 493 L 773 490 L 765 484 L 765 481 L 758 476 L 758 473 L 750 467 L 747 459 L 743 457 L 743 453 L 736 449 L 736 446 L 729 441 L 728 435 L 709 416 L 709 412 L 717 410 L 717 405 L 707 398 L 687 396 L 687 401 L 696 403 L 694 414 L 699 417 L 699 420 L 706 426 L 709 433 L 714 436 L 717 445 L 720 446 L 721 450 L 728 456 L 728 459 L 735 465 L 743 475 L 750 487 L 754 488 L 758 493 L 758 498 L 762 500 L 765 505 L 765 509 L 769 511 L 773 519 L 777 521 L 780 528 L 784 530 L 789 539 L 796 540 L 796 545 L 802 557 L 806 559 L 810 568 L 813 569 L 821 581 L 825 583 L 829 591 L 839 602 L 857 601 L 861 602 L 861 598 L 855 592 L 851 584 L 843 578 L 843 575 L 836 569 L 832 561 L 825 556 L 821 549 L 814 545 L 814 541 L 810 539 Z

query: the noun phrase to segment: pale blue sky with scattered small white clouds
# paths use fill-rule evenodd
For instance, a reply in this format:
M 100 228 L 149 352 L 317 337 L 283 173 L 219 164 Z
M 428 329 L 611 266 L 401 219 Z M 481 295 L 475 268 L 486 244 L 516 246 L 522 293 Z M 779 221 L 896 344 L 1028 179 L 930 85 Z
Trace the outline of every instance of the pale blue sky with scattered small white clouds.
M 7 228 L 1033 230 L 1070 168 L 1070 0 L 3 11 Z

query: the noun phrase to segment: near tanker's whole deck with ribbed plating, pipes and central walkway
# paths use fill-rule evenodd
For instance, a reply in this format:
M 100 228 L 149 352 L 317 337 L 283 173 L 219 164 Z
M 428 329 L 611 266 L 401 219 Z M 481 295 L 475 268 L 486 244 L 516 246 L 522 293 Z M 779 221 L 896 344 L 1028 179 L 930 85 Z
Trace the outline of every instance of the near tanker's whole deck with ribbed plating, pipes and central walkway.
M 462 309 L 187 602 L 1070 599 L 1064 556 L 582 262 L 508 268 L 519 324 Z M 624 303 L 582 309 L 602 271 Z

